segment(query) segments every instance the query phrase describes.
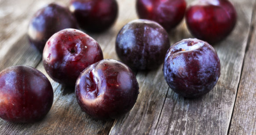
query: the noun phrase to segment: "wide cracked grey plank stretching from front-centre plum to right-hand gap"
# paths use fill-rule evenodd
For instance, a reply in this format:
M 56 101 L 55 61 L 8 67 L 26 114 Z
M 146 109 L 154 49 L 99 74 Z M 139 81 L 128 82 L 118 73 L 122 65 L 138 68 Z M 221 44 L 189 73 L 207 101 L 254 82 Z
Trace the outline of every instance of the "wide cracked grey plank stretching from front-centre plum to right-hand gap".
M 139 72 L 137 79 L 140 94 L 137 103 L 129 114 L 115 120 L 111 135 L 227 134 L 249 36 L 253 5 L 248 0 L 231 1 L 238 11 L 238 23 L 231 36 L 214 46 L 221 61 L 221 77 L 216 87 L 206 96 L 186 99 L 171 89 L 168 90 L 162 67 L 158 71 Z M 172 43 L 187 37 L 192 36 L 184 22 L 171 34 Z

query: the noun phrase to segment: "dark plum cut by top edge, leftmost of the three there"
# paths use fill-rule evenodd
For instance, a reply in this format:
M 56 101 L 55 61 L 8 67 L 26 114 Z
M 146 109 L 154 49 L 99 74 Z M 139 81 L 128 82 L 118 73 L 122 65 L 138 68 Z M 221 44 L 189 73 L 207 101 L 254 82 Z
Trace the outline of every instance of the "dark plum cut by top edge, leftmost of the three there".
M 84 30 L 102 32 L 115 22 L 118 4 L 116 0 L 71 0 L 69 10 Z

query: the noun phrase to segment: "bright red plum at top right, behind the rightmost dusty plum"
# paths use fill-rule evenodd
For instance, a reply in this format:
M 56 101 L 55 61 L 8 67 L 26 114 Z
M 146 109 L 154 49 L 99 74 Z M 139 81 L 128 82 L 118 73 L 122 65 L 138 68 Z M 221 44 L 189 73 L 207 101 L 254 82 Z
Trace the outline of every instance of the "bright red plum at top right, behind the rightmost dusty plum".
M 197 0 L 186 12 L 186 23 L 193 36 L 218 43 L 234 29 L 237 13 L 228 0 Z

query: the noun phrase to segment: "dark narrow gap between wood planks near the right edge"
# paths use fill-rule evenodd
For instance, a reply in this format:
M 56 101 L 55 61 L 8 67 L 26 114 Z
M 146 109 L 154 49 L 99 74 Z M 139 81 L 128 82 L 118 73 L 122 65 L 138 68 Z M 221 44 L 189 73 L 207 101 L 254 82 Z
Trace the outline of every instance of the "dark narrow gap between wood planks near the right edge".
M 252 17 L 251 17 L 251 22 L 250 22 L 250 30 L 249 30 L 249 35 L 248 35 L 248 38 L 247 38 L 247 43 L 246 43 L 246 46 L 245 46 L 245 53 L 244 53 L 244 58 L 243 58 L 241 74 L 240 74 L 240 77 L 239 77 L 238 87 L 237 87 L 237 90 L 236 90 L 236 96 L 235 96 L 235 99 L 234 99 L 234 105 L 233 105 L 232 114 L 231 114 L 230 121 L 229 121 L 227 135 L 229 135 L 229 131 L 230 131 L 231 123 L 232 123 L 232 117 L 233 117 L 233 114 L 234 114 L 234 106 L 236 104 L 236 99 L 237 99 L 237 96 L 238 96 L 238 89 L 240 88 L 239 86 L 240 86 L 240 83 L 241 83 L 242 72 L 243 72 L 244 65 L 245 65 L 245 54 L 247 53 L 247 51 L 249 49 L 249 44 L 251 43 L 251 40 L 252 40 L 252 32 L 254 31 L 254 27 L 255 27 L 254 23 L 256 23 L 253 20 L 255 20 L 255 18 L 256 18 L 256 1 L 254 2 L 254 5 L 253 5 Z

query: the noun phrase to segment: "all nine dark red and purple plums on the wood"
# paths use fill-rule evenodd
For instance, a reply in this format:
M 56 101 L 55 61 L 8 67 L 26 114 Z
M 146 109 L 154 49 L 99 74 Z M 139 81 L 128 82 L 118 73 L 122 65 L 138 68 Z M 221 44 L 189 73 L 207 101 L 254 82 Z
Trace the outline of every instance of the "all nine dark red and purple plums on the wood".
M 164 63 L 167 84 L 184 97 L 205 95 L 216 85 L 220 59 L 209 43 L 231 33 L 236 11 L 228 0 L 195 0 L 186 6 L 185 0 L 137 0 L 140 19 L 124 25 L 116 37 L 115 50 L 123 63 L 104 59 L 97 41 L 78 30 L 110 28 L 118 14 L 116 0 L 71 0 L 68 7 L 49 4 L 32 17 L 29 42 L 43 53 L 50 78 L 75 88 L 84 112 L 97 119 L 116 118 L 133 108 L 139 94 L 131 69 L 153 70 Z M 170 46 L 167 32 L 184 16 L 198 39 Z M 0 117 L 6 121 L 39 121 L 49 112 L 53 96 L 50 81 L 35 68 L 14 66 L 0 72 Z

